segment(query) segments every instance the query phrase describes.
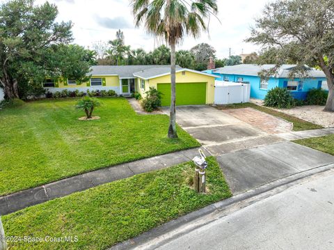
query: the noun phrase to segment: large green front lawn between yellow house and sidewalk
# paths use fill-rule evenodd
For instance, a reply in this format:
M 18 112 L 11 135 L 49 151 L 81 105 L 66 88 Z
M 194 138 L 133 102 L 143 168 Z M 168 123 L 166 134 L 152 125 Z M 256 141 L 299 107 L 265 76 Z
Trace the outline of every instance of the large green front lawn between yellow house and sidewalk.
M 36 187 L 104 166 L 200 144 L 180 127 L 168 139 L 168 116 L 137 115 L 124 98 L 101 98 L 93 115 L 76 99 L 27 102 L 0 111 L 0 195 Z

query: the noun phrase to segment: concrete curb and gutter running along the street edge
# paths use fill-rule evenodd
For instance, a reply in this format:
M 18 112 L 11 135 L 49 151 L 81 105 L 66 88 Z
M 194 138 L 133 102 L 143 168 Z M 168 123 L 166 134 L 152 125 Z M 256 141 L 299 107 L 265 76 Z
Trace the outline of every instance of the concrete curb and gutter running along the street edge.
M 269 182 L 266 185 L 262 185 L 255 189 L 248 190 L 247 192 L 237 194 L 236 196 L 232 196 L 231 198 L 227 198 L 223 201 L 218 201 L 217 203 L 207 205 L 205 208 L 201 208 L 200 210 L 186 214 L 182 217 L 174 219 L 173 221 L 169 221 L 166 224 L 158 226 L 157 228 L 153 228 L 152 230 L 138 235 L 133 239 L 116 244 L 109 248 L 109 250 L 156 249 L 157 247 L 166 244 L 174 238 L 180 237 L 189 231 L 193 231 L 196 228 L 200 228 L 201 226 L 216 220 L 213 216 L 209 218 L 203 218 L 205 216 L 208 217 L 208 215 L 211 214 L 219 214 L 219 217 L 224 217 L 230 212 L 246 208 L 248 205 L 283 192 L 289 187 L 298 185 L 299 183 L 305 182 L 310 178 L 315 178 L 316 176 L 324 175 L 328 172 L 334 173 L 333 170 L 334 164 L 326 164 L 314 169 L 289 175 L 283 179 L 274 180 L 273 182 Z M 234 209 L 232 209 L 232 207 L 234 207 Z M 189 225 L 194 221 L 198 221 L 196 226 Z M 180 228 L 180 232 L 176 231 L 177 228 Z

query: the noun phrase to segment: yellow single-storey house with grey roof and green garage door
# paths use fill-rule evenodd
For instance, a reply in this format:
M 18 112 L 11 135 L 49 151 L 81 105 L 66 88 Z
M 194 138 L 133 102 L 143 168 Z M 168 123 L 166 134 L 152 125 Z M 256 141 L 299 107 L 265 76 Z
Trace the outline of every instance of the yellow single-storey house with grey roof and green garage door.
M 75 79 L 46 81 L 47 91 L 55 93 L 67 89 L 86 92 L 92 90 L 113 90 L 118 95 L 138 92 L 145 96 L 150 87 L 163 93 L 162 105 L 170 104 L 170 65 L 95 65 L 91 67 L 90 79 L 80 83 Z M 205 72 L 176 68 L 176 104 L 214 103 L 214 80 L 216 75 Z

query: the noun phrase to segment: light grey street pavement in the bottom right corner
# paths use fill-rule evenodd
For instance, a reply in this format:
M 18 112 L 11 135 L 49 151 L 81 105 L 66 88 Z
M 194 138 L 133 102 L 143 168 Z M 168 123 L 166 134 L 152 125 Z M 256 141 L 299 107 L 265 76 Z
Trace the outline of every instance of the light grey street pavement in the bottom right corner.
M 157 249 L 334 249 L 334 172 L 232 212 Z

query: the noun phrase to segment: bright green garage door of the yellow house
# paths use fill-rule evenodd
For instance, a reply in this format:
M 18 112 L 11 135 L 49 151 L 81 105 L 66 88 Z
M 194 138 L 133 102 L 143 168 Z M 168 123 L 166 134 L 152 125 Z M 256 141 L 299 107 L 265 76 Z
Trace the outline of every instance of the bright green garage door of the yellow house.
M 170 84 L 157 84 L 158 91 L 163 93 L 161 106 L 170 105 Z M 207 96 L 207 84 L 197 83 L 177 83 L 176 84 L 176 104 L 193 105 L 205 104 Z

